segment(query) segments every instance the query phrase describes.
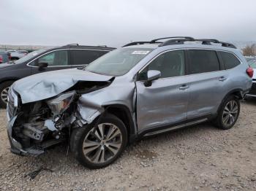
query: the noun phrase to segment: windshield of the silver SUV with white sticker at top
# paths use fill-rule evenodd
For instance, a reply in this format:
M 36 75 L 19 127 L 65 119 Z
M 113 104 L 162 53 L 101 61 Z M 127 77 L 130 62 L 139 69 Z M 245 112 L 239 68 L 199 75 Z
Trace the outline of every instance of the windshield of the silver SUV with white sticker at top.
M 121 48 L 113 50 L 90 63 L 84 70 L 108 76 L 121 76 L 132 69 L 152 50 L 150 48 Z

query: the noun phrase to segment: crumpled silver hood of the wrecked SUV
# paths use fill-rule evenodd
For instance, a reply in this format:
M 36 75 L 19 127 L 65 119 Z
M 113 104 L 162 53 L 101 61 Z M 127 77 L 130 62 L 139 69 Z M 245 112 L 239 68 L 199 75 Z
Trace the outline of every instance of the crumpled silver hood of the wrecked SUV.
M 78 81 L 106 82 L 112 77 L 79 69 L 49 71 L 25 77 L 13 83 L 23 104 L 51 98 L 64 92 Z

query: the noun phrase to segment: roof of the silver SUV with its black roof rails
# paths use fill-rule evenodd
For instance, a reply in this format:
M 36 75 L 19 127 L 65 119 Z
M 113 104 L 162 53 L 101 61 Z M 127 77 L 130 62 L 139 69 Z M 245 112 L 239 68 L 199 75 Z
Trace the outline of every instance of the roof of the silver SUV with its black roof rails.
M 168 40 L 162 41 L 163 39 Z M 161 42 L 159 40 L 161 40 Z M 217 39 L 194 39 L 189 36 L 165 37 L 160 39 L 153 39 L 149 42 L 131 42 L 129 44 L 125 44 L 123 47 L 157 49 L 159 47 L 165 47 L 170 45 L 172 45 L 173 48 L 197 47 L 217 50 L 236 50 L 236 47 L 228 42 L 219 42 L 219 40 Z

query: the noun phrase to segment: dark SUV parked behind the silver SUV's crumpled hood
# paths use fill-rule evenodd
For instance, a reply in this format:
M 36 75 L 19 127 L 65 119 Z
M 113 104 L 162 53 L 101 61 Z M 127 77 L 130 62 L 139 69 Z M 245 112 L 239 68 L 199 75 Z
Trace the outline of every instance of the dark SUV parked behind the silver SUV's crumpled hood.
M 18 79 L 45 71 L 71 69 L 86 66 L 102 55 L 114 50 L 112 47 L 91 47 L 68 44 L 48 50 L 37 50 L 18 61 L 0 65 L 0 107 L 6 107 L 10 85 Z M 47 76 L 45 76 L 47 78 Z

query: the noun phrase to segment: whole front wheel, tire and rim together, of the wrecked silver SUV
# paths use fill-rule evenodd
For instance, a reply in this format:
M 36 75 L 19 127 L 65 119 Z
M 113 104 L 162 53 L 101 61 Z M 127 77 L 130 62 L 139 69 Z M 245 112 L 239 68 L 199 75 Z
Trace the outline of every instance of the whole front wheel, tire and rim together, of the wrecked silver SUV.
M 73 130 L 70 147 L 82 165 L 95 169 L 110 165 L 121 155 L 127 146 L 127 128 L 112 114 L 94 127 L 95 122 Z

